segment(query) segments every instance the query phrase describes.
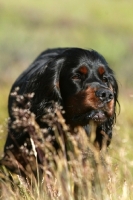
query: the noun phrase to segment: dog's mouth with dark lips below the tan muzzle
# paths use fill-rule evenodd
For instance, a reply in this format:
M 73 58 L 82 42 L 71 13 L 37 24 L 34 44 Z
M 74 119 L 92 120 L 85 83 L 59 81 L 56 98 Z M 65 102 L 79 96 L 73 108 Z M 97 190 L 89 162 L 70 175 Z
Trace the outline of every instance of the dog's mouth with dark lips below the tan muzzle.
M 102 110 L 92 110 L 88 113 L 76 115 L 73 117 L 73 121 L 83 122 L 86 123 L 89 120 L 93 120 L 96 123 L 105 122 L 107 119 L 106 114 Z

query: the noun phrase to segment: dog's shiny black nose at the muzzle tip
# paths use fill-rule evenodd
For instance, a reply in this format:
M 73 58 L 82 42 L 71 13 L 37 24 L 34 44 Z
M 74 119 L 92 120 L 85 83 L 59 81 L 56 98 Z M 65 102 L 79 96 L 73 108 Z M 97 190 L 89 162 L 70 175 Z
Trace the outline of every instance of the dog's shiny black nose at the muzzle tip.
M 113 92 L 106 89 L 99 89 L 95 94 L 104 103 L 110 102 L 114 98 Z

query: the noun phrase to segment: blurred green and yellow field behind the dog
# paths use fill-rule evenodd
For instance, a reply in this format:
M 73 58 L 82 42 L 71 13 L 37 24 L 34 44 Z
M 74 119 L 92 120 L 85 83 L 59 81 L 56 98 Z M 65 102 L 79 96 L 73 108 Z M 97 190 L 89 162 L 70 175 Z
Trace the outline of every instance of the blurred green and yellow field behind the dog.
M 132 0 L 0 1 L 0 152 L 11 85 L 38 54 L 53 47 L 92 48 L 106 58 L 119 83 L 121 105 L 110 149 L 115 155 L 122 148 L 125 159 L 132 160 Z

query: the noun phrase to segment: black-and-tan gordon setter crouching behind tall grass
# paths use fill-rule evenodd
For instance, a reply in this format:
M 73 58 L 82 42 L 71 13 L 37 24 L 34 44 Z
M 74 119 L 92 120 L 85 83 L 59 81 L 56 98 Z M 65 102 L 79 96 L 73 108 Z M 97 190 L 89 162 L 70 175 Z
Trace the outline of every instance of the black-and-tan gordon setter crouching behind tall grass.
M 26 69 L 12 86 L 18 95 L 34 93 L 29 110 L 36 122 L 45 127 L 42 117 L 53 102 L 63 107 L 66 124 L 71 130 L 83 127 L 90 135 L 90 122 L 96 125 L 95 144 L 102 148 L 104 137 L 108 146 L 116 116 L 118 84 L 112 69 L 102 55 L 80 48 L 48 49 Z M 14 97 L 9 96 L 10 127 L 5 151 L 10 145 L 22 145 L 25 134 L 12 130 Z M 104 134 L 103 134 L 104 133 Z M 13 137 L 12 137 L 13 135 Z

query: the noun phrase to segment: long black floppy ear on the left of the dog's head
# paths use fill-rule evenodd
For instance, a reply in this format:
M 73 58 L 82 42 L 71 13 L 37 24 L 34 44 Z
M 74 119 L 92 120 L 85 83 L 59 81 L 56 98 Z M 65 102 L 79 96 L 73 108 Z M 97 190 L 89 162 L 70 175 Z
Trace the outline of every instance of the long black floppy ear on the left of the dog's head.
M 53 102 L 62 104 L 62 97 L 59 86 L 59 76 L 63 65 L 62 59 L 54 58 L 47 63 L 45 69 L 43 67 L 38 70 L 37 74 L 33 74 L 31 80 L 34 85 L 28 86 L 28 91 L 33 88 L 34 97 L 32 99 L 32 108 L 37 116 L 43 115 L 45 108 L 52 107 Z

